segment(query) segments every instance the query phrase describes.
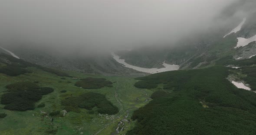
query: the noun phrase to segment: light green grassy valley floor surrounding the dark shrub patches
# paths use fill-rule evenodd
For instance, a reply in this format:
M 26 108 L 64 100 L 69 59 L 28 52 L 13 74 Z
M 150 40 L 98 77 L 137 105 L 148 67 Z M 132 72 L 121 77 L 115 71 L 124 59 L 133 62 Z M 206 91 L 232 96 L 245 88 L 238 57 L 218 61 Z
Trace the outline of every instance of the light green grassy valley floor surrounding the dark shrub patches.
M 16 77 L 0 74 L 0 95 L 6 92 L 7 84 L 35 80 L 39 81 L 39 85 L 43 85 L 43 87 L 54 88 L 54 92 L 43 96 L 42 100 L 36 103 L 36 106 L 45 103 L 46 106 L 43 108 L 36 107 L 34 110 L 20 112 L 3 109 L 4 105 L 0 104 L 0 113 L 7 114 L 5 118 L 0 119 L 0 135 L 51 135 L 52 130 L 57 131 L 56 135 L 109 135 L 116 132 L 118 122 L 122 119 L 129 120 L 134 110 L 148 103 L 149 95 L 154 91 L 134 87 L 136 80 L 133 77 L 104 77 L 114 82 L 113 87 L 82 89 L 74 85 L 78 80 L 69 77 L 66 77 L 66 80 L 61 80 L 61 77 L 55 74 L 33 67 L 30 67 L 30 70 L 33 73 Z M 77 72 L 69 74 L 77 78 L 102 77 Z M 61 90 L 67 92 L 60 93 Z M 53 122 L 51 122 L 51 118 L 43 116 L 42 112 L 50 113 L 62 110 L 61 100 L 66 97 L 78 96 L 87 92 L 106 95 L 106 98 L 118 107 L 119 113 L 111 116 L 98 113 L 90 114 L 88 110 L 81 109 L 81 113 L 68 112 L 64 117 L 54 117 Z M 133 126 L 134 122 L 125 122 L 124 129 L 120 133 L 125 134 Z

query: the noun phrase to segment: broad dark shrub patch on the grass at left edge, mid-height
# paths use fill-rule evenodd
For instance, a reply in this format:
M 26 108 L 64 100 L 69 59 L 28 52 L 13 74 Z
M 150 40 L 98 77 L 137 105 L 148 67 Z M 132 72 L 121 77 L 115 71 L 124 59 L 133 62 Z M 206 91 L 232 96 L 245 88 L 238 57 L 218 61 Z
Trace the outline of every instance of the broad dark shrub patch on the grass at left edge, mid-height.
M 35 102 L 43 95 L 53 92 L 53 88 L 39 87 L 32 82 L 18 82 L 6 86 L 8 93 L 1 96 L 4 109 L 25 111 L 35 108 Z

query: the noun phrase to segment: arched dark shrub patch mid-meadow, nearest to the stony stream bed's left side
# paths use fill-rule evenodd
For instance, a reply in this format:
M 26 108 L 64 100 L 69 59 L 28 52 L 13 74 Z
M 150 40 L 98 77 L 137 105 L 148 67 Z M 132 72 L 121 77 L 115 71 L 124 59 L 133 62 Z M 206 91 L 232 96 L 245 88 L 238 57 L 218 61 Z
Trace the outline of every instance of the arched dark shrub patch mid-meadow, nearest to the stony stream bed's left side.
M 118 108 L 109 102 L 104 95 L 93 92 L 85 93 L 78 97 L 68 97 L 62 101 L 62 105 L 69 106 L 69 108 L 74 106 L 75 108 L 80 107 L 87 110 L 92 110 L 96 106 L 98 113 L 109 115 L 118 113 Z

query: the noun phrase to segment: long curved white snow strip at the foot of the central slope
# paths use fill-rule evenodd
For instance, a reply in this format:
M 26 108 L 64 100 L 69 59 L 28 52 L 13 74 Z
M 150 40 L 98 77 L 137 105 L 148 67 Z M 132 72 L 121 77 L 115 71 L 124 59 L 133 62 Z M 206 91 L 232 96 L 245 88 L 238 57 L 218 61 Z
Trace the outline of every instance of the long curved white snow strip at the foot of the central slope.
M 136 67 L 133 65 L 130 65 L 128 63 L 125 62 L 125 60 L 120 59 L 120 57 L 118 55 L 115 55 L 114 53 L 112 53 L 112 57 L 118 62 L 123 64 L 125 67 L 128 68 L 132 68 L 136 71 L 140 71 L 140 72 L 145 72 L 145 73 L 150 73 L 150 74 L 155 74 L 155 73 L 160 73 L 160 72 L 166 72 L 166 71 L 175 71 L 175 70 L 179 70 L 180 66 L 178 65 L 170 65 L 170 64 L 166 64 L 165 61 L 163 62 L 164 67 L 163 68 L 143 68 L 143 67 Z

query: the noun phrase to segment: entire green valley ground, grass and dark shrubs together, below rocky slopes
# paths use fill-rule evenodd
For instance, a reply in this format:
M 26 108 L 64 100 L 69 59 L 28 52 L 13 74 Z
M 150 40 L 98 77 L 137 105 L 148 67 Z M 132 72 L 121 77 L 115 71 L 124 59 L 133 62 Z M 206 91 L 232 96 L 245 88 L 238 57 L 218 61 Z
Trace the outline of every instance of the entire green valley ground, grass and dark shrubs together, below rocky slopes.
M 0 135 L 254 135 L 256 93 L 227 77 L 237 74 L 256 90 L 255 58 L 135 79 L 45 70 L 1 56 L 0 68 L 27 72 L 0 73 Z

